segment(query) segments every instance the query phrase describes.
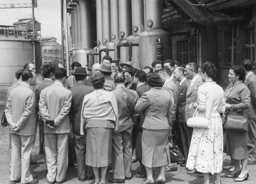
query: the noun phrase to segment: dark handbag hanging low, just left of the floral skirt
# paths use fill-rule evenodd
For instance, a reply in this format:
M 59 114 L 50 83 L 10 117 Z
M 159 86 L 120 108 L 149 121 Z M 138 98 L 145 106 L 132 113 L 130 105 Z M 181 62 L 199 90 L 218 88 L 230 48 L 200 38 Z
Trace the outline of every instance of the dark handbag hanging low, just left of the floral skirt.
M 171 142 L 172 145 L 173 145 L 171 135 L 168 136 L 168 139 L 169 139 L 169 142 Z M 170 146 L 170 144 L 169 144 L 169 149 L 170 149 L 171 163 L 177 163 L 177 162 L 184 162 L 185 161 L 185 158 L 182 155 L 182 153 L 180 151 L 180 148 L 177 145 Z

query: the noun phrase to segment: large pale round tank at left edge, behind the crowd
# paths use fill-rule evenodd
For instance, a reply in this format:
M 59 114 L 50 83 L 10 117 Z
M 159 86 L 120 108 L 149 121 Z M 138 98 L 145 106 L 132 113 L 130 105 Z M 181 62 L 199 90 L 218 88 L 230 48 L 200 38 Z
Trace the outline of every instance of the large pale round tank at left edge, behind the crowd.
M 36 43 L 36 74 L 41 74 L 41 49 L 40 43 Z M 0 39 L 0 83 L 12 83 L 15 72 L 23 69 L 27 62 L 34 60 L 33 44 L 28 40 Z

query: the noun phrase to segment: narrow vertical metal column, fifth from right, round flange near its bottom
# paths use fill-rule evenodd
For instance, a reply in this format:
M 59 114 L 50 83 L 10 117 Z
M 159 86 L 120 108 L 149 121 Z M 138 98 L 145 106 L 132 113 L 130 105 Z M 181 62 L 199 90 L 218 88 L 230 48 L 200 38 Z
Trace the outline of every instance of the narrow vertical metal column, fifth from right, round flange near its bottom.
M 110 2 L 102 0 L 102 44 L 106 45 L 111 41 L 110 32 Z

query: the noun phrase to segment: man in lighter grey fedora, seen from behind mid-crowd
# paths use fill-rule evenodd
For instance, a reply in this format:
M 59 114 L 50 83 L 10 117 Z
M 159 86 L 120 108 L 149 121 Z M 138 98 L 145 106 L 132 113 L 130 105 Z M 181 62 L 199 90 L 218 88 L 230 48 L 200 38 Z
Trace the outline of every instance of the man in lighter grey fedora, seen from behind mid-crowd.
M 111 74 L 112 74 L 111 64 L 108 62 L 104 62 L 102 63 L 101 68 L 98 70 L 105 78 L 103 89 L 106 91 L 112 91 L 116 89 L 116 85 L 113 81 L 113 78 L 111 78 Z

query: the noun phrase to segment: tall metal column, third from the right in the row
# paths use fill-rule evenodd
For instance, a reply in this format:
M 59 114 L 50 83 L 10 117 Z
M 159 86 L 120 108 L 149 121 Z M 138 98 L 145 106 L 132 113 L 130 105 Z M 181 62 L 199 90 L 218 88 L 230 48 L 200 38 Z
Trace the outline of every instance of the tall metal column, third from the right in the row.
M 116 46 L 119 43 L 126 42 L 126 38 L 132 34 L 132 11 L 131 0 L 119 0 L 119 40 L 115 41 L 115 53 Z M 120 48 L 120 61 L 128 61 L 128 47 Z M 116 54 L 115 54 L 116 60 Z

